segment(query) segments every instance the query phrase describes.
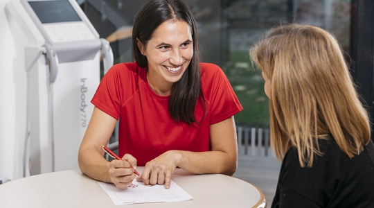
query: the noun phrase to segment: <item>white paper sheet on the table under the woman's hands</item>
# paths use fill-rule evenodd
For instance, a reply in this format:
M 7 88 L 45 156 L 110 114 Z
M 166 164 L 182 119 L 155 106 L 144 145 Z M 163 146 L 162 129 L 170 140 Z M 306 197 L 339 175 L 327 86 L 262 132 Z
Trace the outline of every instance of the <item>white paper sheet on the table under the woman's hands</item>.
M 114 184 L 98 182 L 114 205 L 126 205 L 151 202 L 179 202 L 190 200 L 193 197 L 171 181 L 170 189 L 164 185 L 145 185 L 143 182 L 132 182 L 127 189 L 118 189 Z

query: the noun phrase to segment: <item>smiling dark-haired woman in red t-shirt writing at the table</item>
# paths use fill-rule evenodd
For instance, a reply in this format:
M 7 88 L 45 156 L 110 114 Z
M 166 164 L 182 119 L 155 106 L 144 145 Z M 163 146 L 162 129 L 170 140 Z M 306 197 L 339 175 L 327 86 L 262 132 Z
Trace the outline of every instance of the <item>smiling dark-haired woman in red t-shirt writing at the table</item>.
M 92 99 L 95 105 L 79 150 L 82 173 L 119 188 L 137 178 L 165 184 L 175 168 L 232 175 L 237 166 L 233 115 L 242 110 L 226 76 L 199 62 L 196 22 L 182 1 L 148 1 L 132 32 L 134 63 L 116 64 Z M 117 121 L 119 157 L 107 162 Z

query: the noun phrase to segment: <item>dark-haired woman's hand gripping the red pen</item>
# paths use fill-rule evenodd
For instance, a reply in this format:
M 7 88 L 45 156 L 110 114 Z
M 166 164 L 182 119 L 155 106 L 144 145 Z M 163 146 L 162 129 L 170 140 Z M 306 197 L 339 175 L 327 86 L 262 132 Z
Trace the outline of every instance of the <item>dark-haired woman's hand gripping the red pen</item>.
M 129 154 L 109 163 L 109 177 L 117 188 L 126 189 L 132 183 L 136 176 L 132 167 L 136 168 L 136 159 Z

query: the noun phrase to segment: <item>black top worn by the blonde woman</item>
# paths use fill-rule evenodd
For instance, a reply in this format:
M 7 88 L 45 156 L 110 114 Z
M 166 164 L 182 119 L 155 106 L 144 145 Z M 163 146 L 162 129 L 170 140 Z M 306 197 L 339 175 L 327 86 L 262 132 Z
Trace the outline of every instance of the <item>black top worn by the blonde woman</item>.
M 296 148 L 287 151 L 271 207 L 374 207 L 373 141 L 352 159 L 332 139 L 319 146 L 312 168 L 301 168 Z

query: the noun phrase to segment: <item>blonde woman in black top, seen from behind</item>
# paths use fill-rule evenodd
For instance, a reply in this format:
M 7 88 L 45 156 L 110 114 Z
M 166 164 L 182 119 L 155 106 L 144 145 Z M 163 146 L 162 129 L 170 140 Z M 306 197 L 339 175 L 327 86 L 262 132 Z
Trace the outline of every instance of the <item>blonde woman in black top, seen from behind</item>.
M 335 37 L 316 26 L 278 26 L 250 55 L 283 162 L 271 207 L 374 207 L 368 114 Z

